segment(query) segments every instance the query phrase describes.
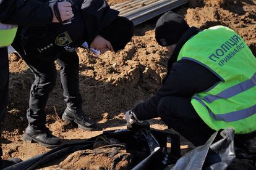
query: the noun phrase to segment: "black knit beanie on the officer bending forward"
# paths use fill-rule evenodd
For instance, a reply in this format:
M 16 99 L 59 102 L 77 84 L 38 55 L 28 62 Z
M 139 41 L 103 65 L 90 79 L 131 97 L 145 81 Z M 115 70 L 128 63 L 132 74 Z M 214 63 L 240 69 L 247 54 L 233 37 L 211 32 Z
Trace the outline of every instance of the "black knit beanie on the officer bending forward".
M 111 43 L 115 52 L 119 51 L 124 49 L 134 35 L 134 23 L 126 17 L 117 17 L 100 35 Z

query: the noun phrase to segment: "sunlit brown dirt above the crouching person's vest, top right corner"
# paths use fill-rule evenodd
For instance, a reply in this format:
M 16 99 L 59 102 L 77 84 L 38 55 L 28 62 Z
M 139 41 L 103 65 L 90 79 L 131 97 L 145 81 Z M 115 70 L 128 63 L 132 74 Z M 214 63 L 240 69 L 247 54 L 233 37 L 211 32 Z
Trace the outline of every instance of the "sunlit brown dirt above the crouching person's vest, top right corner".
M 190 26 L 205 29 L 224 25 L 244 38 L 256 54 L 256 1 L 252 0 L 192 0 L 187 9 L 186 20 Z

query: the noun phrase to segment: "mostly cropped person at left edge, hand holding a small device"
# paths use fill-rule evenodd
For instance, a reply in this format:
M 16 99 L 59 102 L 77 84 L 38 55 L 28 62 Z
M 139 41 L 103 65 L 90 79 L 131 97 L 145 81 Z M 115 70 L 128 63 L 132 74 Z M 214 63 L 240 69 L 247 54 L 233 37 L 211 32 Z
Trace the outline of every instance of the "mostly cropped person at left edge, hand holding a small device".
M 1 126 L 7 112 L 8 87 L 9 87 L 9 62 L 7 46 L 11 45 L 15 38 L 17 25 L 47 25 L 51 22 L 59 22 L 53 12 L 52 3 L 46 6 L 40 1 L 0 0 L 0 123 Z M 74 17 L 70 2 L 58 3 L 59 15 L 62 20 Z M 69 14 L 69 15 L 67 15 Z M 1 136 L 1 131 L 0 131 Z M 1 149 L 1 148 L 0 148 Z M 1 160 L 0 169 L 7 166 L 9 161 Z

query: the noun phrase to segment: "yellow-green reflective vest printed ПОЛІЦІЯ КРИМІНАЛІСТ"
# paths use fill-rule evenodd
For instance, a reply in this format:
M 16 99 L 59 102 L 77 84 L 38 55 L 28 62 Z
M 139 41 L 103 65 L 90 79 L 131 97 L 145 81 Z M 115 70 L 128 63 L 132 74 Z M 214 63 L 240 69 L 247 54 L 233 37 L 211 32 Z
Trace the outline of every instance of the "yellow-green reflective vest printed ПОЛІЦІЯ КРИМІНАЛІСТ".
M 233 127 L 236 134 L 256 130 L 256 59 L 241 36 L 225 26 L 213 26 L 184 44 L 181 59 L 193 60 L 221 79 L 191 100 L 211 129 Z

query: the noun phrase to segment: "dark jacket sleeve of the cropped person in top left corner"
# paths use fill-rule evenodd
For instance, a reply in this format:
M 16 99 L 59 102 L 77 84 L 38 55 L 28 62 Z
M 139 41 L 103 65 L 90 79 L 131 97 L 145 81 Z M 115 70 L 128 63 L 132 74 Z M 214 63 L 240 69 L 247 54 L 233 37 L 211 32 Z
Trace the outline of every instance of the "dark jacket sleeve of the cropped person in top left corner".
M 43 26 L 51 23 L 51 8 L 36 0 L 3 0 L 0 22 L 13 25 Z

